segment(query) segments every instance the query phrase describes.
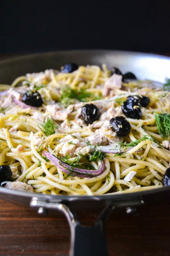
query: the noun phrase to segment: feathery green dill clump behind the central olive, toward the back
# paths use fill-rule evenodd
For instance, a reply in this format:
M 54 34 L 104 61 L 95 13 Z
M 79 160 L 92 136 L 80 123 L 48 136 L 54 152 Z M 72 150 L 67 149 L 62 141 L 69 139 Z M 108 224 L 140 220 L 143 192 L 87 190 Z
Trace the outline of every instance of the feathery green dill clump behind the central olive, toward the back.
M 92 100 L 98 100 L 100 97 L 94 96 L 92 93 L 84 89 L 72 89 L 68 86 L 64 86 L 62 89 L 62 96 L 60 98 L 60 103 L 64 104 L 65 106 L 69 105 L 73 100 L 79 100 L 82 102 L 88 102 Z

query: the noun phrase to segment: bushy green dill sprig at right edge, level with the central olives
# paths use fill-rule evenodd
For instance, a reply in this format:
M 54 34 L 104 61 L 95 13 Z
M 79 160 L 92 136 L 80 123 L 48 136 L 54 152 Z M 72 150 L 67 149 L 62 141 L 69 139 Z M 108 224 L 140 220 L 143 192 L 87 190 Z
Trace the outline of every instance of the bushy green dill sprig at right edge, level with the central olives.
M 155 122 L 158 128 L 158 132 L 163 139 L 168 139 L 170 137 L 170 114 L 155 113 Z

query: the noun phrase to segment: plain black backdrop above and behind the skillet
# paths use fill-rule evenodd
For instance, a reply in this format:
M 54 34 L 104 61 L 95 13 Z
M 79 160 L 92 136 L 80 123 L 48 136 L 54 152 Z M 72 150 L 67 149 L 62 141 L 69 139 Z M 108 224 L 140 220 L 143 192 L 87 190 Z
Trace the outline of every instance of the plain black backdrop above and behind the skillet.
M 0 1 L 0 54 L 90 48 L 170 53 L 170 2 Z

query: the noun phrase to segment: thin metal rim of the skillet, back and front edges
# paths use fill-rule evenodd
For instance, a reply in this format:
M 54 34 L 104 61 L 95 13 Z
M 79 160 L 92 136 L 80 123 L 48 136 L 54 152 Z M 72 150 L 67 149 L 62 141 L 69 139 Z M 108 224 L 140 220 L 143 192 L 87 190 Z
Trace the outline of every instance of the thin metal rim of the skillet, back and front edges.
M 167 59 L 170 61 L 170 57 L 166 56 L 166 55 L 160 55 L 160 54 L 155 54 L 155 53 L 143 53 L 143 52 L 133 52 L 133 51 L 122 51 L 122 50 L 112 50 L 112 49 L 67 49 L 67 50 L 62 50 L 62 51 L 50 51 L 50 52 L 41 52 L 41 53 L 33 53 L 33 54 L 26 54 L 26 55 L 20 55 L 18 57 L 11 57 L 11 58 L 7 58 L 4 60 L 0 61 L 0 67 L 3 65 L 6 65 L 8 63 L 15 63 L 16 61 L 19 60 L 27 60 L 27 59 L 31 59 L 31 58 L 35 58 L 35 57 L 39 57 L 39 56 L 46 56 L 46 55 L 57 55 L 57 54 L 67 54 L 67 53 L 74 53 L 74 54 L 80 54 L 80 53 L 115 53 L 115 54 L 121 54 L 121 55 L 134 55 L 134 56 L 147 56 L 147 57 L 155 57 L 155 58 L 159 58 L 159 59 Z M 12 190 L 12 189 L 7 189 L 7 188 L 3 188 L 0 187 L 0 194 L 8 194 L 8 195 L 15 195 L 15 196 L 20 196 L 20 197 L 28 197 L 28 198 L 32 198 L 32 197 L 37 197 L 39 199 L 47 199 L 47 200 L 59 200 L 59 201 L 75 201 L 75 200 L 118 200 L 119 198 L 122 198 L 122 196 L 125 199 L 128 198 L 134 198 L 134 197 L 138 197 L 138 196 L 143 196 L 143 195 L 149 195 L 149 194 L 153 194 L 153 193 L 157 193 L 157 192 L 161 192 L 161 191 L 170 191 L 170 187 L 165 186 L 165 187 L 160 187 L 160 188 L 153 188 L 153 189 L 148 189 L 148 190 L 141 190 L 141 191 L 133 191 L 133 192 L 127 192 L 127 193 L 116 193 L 115 195 L 112 194 L 104 194 L 104 195 L 94 195 L 94 196 L 89 196 L 89 195 L 71 195 L 71 196 L 61 196 L 61 195 L 45 195 L 45 194 L 39 194 L 39 193 L 31 193 L 31 192 L 27 192 L 27 191 L 19 191 L 19 190 Z

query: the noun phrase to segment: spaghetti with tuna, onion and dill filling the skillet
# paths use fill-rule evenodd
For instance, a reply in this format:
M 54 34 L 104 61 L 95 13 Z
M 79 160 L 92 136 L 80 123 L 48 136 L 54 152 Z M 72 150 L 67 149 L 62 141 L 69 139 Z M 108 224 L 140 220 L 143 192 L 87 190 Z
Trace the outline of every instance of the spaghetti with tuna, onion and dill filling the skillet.
M 5 187 L 52 195 L 161 187 L 169 168 L 170 134 L 159 134 L 155 114 L 170 113 L 170 93 L 155 89 L 151 81 L 122 83 L 121 79 L 111 75 L 106 65 L 102 69 L 81 66 L 72 73 L 27 74 L 11 88 L 3 85 L 0 165 L 10 166 L 13 173 Z M 22 95 L 30 91 L 41 96 L 41 106 L 24 103 Z M 122 103 L 136 95 L 150 99 L 147 107 L 140 107 L 140 119 L 122 112 Z M 92 123 L 82 117 L 86 104 L 99 111 Z M 125 117 L 131 127 L 122 137 L 110 123 L 118 116 Z

